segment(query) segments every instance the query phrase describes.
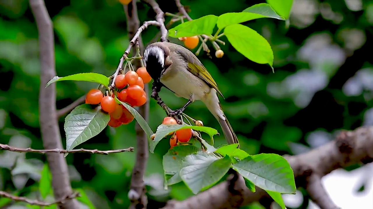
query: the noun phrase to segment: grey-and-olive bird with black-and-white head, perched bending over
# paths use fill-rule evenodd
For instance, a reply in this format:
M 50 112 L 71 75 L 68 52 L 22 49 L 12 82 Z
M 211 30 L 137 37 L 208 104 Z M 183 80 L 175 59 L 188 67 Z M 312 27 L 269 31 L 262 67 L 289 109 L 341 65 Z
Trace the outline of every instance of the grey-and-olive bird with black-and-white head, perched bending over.
M 175 110 L 171 115 L 179 115 L 190 103 L 201 100 L 219 121 L 228 143 L 238 144 L 237 136 L 220 106 L 217 92 L 220 95 L 222 93 L 193 52 L 178 44 L 155 42 L 145 48 L 144 60 L 146 69 L 154 80 L 153 91 L 158 93 L 164 86 L 176 96 L 189 100 L 184 107 Z M 158 94 L 156 96 L 158 97 Z M 160 100 L 159 97 L 154 99 Z

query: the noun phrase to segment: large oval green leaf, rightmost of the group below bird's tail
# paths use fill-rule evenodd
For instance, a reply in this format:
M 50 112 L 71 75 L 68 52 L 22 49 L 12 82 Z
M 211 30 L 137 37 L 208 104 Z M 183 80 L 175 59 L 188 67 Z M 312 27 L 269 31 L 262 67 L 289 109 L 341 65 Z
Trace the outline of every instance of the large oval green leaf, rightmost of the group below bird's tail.
M 253 155 L 233 164 L 233 169 L 261 189 L 295 194 L 293 170 L 280 155 Z

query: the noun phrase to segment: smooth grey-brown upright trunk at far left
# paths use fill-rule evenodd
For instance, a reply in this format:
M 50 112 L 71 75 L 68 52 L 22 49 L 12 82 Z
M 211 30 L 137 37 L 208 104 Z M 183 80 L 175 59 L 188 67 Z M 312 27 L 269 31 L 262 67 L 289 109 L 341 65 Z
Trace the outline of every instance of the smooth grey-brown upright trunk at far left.
M 46 149 L 62 149 L 61 135 L 57 122 L 56 111 L 56 84 L 44 88 L 45 84 L 56 75 L 54 59 L 54 35 L 53 24 L 48 15 L 43 0 L 30 0 L 32 13 L 39 33 L 40 49 L 40 128 L 43 145 Z M 52 187 L 54 197 L 57 200 L 63 199 L 72 194 L 68 165 L 63 155 L 58 153 L 47 153 L 47 161 L 52 173 Z M 78 201 L 75 199 L 60 202 L 62 209 L 78 209 Z

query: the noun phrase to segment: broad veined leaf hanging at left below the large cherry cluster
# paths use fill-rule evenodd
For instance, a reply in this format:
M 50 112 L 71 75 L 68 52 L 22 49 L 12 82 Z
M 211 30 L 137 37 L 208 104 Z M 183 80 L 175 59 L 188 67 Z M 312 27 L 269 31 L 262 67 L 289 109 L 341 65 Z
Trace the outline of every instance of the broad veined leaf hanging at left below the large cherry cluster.
M 70 151 L 99 134 L 109 120 L 110 115 L 101 111 L 100 106 L 95 109 L 87 104 L 75 107 L 65 118 L 66 149 Z

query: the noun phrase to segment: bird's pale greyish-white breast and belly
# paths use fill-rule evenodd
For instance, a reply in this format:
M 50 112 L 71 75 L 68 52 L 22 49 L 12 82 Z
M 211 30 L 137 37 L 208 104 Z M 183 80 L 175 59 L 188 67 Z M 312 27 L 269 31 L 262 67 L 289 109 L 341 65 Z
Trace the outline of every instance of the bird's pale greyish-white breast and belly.
M 209 93 L 211 88 L 200 78 L 190 73 L 183 67 L 178 69 L 170 66 L 161 76 L 160 81 L 175 92 L 176 96 L 190 99 L 193 95 L 194 100 L 201 100 Z

